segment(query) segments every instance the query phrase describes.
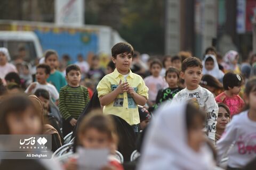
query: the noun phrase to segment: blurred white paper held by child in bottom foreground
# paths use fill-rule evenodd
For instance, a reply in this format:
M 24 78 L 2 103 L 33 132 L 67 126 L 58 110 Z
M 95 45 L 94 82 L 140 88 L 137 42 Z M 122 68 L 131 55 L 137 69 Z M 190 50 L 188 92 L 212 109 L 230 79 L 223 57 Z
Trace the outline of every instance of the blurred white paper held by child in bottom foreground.
M 99 170 L 108 165 L 109 149 L 78 148 L 78 169 Z

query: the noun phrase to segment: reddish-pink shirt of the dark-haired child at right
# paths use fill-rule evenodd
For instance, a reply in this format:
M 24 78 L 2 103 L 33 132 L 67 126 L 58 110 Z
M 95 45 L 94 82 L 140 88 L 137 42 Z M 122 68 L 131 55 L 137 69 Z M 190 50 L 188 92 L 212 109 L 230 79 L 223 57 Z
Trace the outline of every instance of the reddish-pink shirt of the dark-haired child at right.
M 228 97 L 225 92 L 222 92 L 217 97 L 215 97 L 215 100 L 218 103 L 226 104 L 230 109 L 230 116 L 231 118 L 241 112 L 242 108 L 244 107 L 244 100 L 238 96 L 235 95 L 233 97 Z

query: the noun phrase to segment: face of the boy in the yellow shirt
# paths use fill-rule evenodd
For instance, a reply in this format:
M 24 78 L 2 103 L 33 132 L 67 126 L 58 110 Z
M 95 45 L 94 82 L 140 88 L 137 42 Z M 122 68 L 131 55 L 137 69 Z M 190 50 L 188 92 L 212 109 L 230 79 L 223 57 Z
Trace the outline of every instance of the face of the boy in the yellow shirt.
M 112 57 L 112 61 L 116 64 L 116 68 L 118 69 L 118 71 L 127 72 L 129 71 L 132 63 L 132 54 L 117 54 L 116 59 Z

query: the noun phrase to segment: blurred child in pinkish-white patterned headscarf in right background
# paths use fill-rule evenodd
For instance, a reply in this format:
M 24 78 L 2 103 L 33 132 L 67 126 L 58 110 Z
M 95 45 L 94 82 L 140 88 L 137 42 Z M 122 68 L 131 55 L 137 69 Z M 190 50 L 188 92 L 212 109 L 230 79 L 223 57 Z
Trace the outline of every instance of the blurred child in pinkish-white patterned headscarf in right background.
M 229 50 L 223 60 L 224 62 L 221 63 L 221 65 L 224 67 L 224 70 L 225 72 L 229 72 L 229 71 L 233 71 L 234 73 L 236 74 L 240 74 L 241 71 L 238 67 L 238 58 L 239 58 L 239 55 L 236 51 L 234 50 Z

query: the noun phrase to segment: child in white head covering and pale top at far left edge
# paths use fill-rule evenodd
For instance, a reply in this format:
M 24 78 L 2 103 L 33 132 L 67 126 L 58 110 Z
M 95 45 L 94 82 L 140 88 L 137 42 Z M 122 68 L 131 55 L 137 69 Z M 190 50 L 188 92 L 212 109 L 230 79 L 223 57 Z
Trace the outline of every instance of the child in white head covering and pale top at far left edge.
M 16 67 L 11 64 L 8 63 L 8 61 L 10 61 L 10 54 L 7 48 L 5 47 L 1 47 L 0 48 L 0 78 L 3 80 L 4 84 L 5 84 L 5 75 L 10 73 L 10 72 L 17 72 Z

